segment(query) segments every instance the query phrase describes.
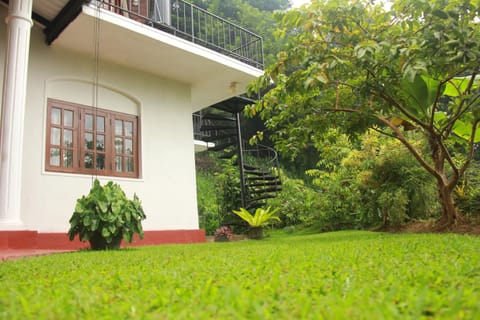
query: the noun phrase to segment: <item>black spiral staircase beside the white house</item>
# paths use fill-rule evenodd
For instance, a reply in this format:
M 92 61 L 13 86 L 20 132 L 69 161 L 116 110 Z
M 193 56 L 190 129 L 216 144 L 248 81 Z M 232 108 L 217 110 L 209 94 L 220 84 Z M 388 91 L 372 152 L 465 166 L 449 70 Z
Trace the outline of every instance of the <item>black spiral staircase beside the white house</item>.
M 197 114 L 196 138 L 208 142 L 219 158 L 232 159 L 240 169 L 242 207 L 255 209 L 265 205 L 282 189 L 277 152 L 261 144 L 249 145 L 242 138 L 241 113 L 252 101 L 234 97 Z M 195 122 L 195 120 L 194 120 Z

